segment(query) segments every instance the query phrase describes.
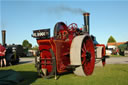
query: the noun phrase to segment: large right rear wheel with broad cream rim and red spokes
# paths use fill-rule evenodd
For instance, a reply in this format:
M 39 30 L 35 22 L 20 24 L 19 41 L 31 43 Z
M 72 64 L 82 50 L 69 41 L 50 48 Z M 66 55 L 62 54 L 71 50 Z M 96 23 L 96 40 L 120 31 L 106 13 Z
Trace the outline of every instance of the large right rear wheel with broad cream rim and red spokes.
M 79 65 L 74 71 L 76 75 L 88 76 L 93 73 L 95 51 L 93 41 L 88 34 L 73 39 L 70 50 L 71 65 Z

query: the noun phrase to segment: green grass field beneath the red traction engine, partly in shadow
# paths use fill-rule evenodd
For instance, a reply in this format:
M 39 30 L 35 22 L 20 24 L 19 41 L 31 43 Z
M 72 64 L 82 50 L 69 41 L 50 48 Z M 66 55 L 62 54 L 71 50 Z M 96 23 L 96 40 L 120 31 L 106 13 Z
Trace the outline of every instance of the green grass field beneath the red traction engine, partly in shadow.
M 18 71 L 24 81 L 18 85 L 128 85 L 128 65 L 106 65 L 95 67 L 94 73 L 88 77 L 76 76 L 73 73 L 54 78 L 43 79 L 37 77 L 34 64 L 20 64 L 2 68 Z

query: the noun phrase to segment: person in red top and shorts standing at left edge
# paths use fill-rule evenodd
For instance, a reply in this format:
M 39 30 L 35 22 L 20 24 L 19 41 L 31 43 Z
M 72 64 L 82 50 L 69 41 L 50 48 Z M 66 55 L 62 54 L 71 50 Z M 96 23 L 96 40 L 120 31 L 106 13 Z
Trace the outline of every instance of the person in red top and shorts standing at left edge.
M 3 61 L 4 61 L 4 66 L 6 66 L 5 52 L 6 52 L 5 47 L 2 46 L 0 43 L 0 66 L 1 67 L 3 66 Z

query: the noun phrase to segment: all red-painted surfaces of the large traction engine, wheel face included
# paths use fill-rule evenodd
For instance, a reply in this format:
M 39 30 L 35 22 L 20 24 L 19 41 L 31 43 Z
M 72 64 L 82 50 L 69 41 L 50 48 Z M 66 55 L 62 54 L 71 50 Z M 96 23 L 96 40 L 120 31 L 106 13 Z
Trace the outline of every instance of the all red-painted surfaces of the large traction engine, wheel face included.
M 70 46 L 72 40 L 75 36 L 79 35 L 76 34 L 77 24 L 73 23 L 69 26 L 65 25 L 64 23 L 60 22 L 60 30 L 56 32 L 58 35 L 57 37 L 52 37 L 50 39 L 37 39 L 37 43 L 39 45 L 40 58 L 41 58 L 41 68 L 46 68 L 48 73 L 50 73 L 53 69 L 52 67 L 52 55 L 49 52 L 51 48 L 54 52 L 56 57 L 56 66 L 57 66 L 57 73 L 63 73 L 68 71 L 66 68 L 70 65 Z M 56 27 L 56 25 L 55 25 Z M 55 29 L 57 30 L 57 29 Z M 67 36 L 68 35 L 68 36 Z M 83 58 L 82 65 L 86 75 L 91 75 L 94 69 L 95 63 L 95 52 L 94 52 L 94 44 L 92 39 L 89 37 L 85 41 L 86 43 L 83 44 L 81 49 L 81 58 Z M 97 45 L 103 46 L 104 45 Z M 103 49 L 104 50 L 104 49 Z M 91 53 L 91 61 L 87 62 L 86 59 L 86 51 Z M 103 51 L 103 55 L 105 51 Z M 84 63 L 86 62 L 86 63 Z

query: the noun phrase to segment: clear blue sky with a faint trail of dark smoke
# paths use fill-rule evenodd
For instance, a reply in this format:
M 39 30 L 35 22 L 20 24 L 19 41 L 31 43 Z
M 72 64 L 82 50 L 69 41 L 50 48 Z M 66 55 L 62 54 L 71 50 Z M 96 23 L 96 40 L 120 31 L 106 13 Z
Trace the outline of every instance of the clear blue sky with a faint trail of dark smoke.
M 7 44 L 27 39 L 34 46 L 33 30 L 50 28 L 53 36 L 60 21 L 82 27 L 82 12 L 90 13 L 90 35 L 99 43 L 106 45 L 110 36 L 117 42 L 128 41 L 127 0 L 1 0 L 0 30 L 6 30 Z

